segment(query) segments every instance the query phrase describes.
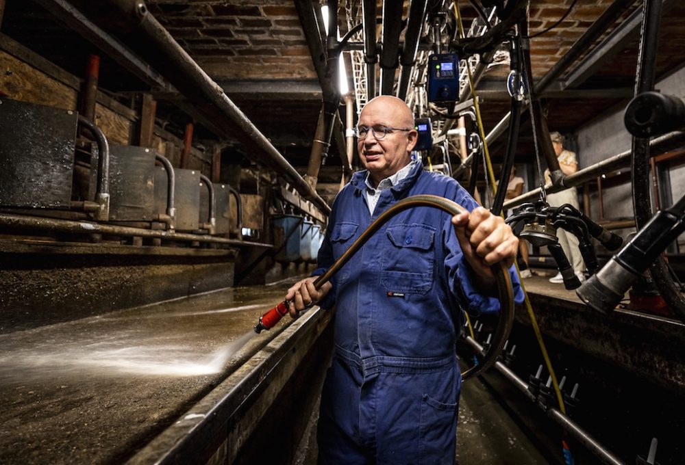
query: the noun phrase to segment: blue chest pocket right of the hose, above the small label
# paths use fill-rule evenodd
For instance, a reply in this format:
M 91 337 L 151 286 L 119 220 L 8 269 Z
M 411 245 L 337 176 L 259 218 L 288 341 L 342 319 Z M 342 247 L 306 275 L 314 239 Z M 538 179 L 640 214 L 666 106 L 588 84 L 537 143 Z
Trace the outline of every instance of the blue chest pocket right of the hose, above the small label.
M 389 244 L 381 272 L 386 290 L 427 293 L 433 287 L 435 228 L 416 223 L 392 224 L 386 235 Z

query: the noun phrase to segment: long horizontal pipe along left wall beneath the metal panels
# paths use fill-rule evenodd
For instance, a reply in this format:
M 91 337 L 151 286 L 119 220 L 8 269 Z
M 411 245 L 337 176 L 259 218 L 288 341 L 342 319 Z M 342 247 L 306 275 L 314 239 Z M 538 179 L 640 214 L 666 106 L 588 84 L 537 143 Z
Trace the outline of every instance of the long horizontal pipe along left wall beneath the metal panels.
M 0 213 L 0 226 L 5 228 L 24 228 L 35 230 L 57 231 L 59 233 L 103 234 L 124 237 L 151 237 L 154 239 L 169 239 L 184 242 L 212 242 L 227 245 L 256 245 L 271 248 L 273 245 L 258 242 L 245 242 L 237 239 L 226 239 L 203 234 L 174 233 L 159 229 L 132 228 L 130 226 L 114 226 L 85 221 L 58 220 L 55 218 L 35 217 L 28 215 L 10 215 Z

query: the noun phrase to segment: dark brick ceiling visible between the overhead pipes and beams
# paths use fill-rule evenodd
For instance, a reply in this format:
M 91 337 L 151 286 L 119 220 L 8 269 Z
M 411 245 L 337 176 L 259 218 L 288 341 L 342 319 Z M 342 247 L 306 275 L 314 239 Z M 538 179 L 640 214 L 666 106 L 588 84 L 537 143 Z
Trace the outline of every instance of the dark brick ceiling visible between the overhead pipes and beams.
M 5 20 L 0 29 L 3 34 L 75 75 L 82 73 L 87 54 L 97 52 L 95 47 L 33 2 L 5 1 Z M 358 4 L 360 0 L 352 1 Z M 530 34 L 555 23 L 571 3 L 572 0 L 532 0 Z M 577 0 L 571 13 L 558 27 L 532 39 L 531 60 L 535 79 L 543 77 L 566 54 L 610 3 L 611 0 Z M 640 3 L 636 1 L 616 27 L 620 27 Z M 409 1 L 405 0 L 406 8 L 408 4 Z M 459 4 L 465 24 L 469 25 L 475 11 L 465 0 Z M 275 146 L 294 165 L 306 165 L 321 94 L 295 4 L 291 0 L 148 0 L 147 5 L 155 18 L 215 81 L 223 85 L 229 97 L 271 138 Z M 345 5 L 345 0 L 340 0 L 341 11 Z M 379 1 L 379 14 L 380 5 L 382 2 Z M 680 4 L 664 16 L 658 76 L 685 64 L 683 18 L 685 5 Z M 341 29 L 346 30 L 347 25 L 343 21 L 340 18 Z M 608 107 L 625 101 L 620 91 L 630 92 L 632 88 L 637 41 L 636 34 L 628 37 L 623 47 L 614 55 L 603 57 L 593 73 L 575 85 L 573 92 L 566 96 L 557 93 L 549 98 L 551 129 L 573 131 Z M 588 53 L 592 48 L 588 47 Z M 113 94 L 149 90 L 119 66 L 108 62 L 106 57 L 102 66 L 101 85 Z M 573 68 L 571 66 L 570 69 Z M 479 84 L 479 89 L 484 91 L 482 109 L 486 131 L 494 127 L 508 110 L 508 102 L 501 92 L 501 81 L 507 73 L 508 66 L 495 67 Z M 579 89 L 588 92 L 583 95 Z M 607 90 L 607 95 L 603 96 L 600 90 Z M 160 108 L 163 111 L 166 107 L 173 106 L 162 105 Z M 184 116 L 178 111 L 170 109 L 166 118 L 171 122 L 170 127 L 174 124 L 182 127 L 184 124 Z M 528 133 L 530 127 L 524 124 L 519 148 L 524 159 L 532 153 Z M 200 134 L 211 137 L 207 132 Z M 493 148 L 495 157 L 501 152 L 501 147 Z M 335 148 L 332 148 L 332 154 L 332 159 L 336 159 Z

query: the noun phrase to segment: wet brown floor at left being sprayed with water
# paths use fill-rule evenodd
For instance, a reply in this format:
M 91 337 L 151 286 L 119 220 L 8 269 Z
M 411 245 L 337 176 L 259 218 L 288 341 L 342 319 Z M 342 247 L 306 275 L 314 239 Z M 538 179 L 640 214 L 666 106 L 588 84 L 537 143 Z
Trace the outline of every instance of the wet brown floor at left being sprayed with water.
M 125 460 L 277 334 L 251 328 L 293 281 L 0 335 L 0 463 Z

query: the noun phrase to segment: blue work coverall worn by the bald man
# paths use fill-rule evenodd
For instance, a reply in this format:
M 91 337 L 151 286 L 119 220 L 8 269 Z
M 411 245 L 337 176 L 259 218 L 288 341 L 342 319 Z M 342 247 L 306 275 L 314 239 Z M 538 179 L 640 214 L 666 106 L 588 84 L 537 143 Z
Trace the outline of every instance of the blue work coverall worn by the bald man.
M 369 214 L 366 170 L 340 191 L 319 251 L 322 274 L 398 200 L 434 194 L 469 211 L 476 202 L 456 181 L 421 163 Z M 388 221 L 332 279 L 320 302 L 336 306 L 335 354 L 321 398 L 323 464 L 453 464 L 461 375 L 455 343 L 469 313 L 499 310 L 475 291 L 451 215 L 431 207 Z M 514 295 L 523 300 L 516 273 Z

